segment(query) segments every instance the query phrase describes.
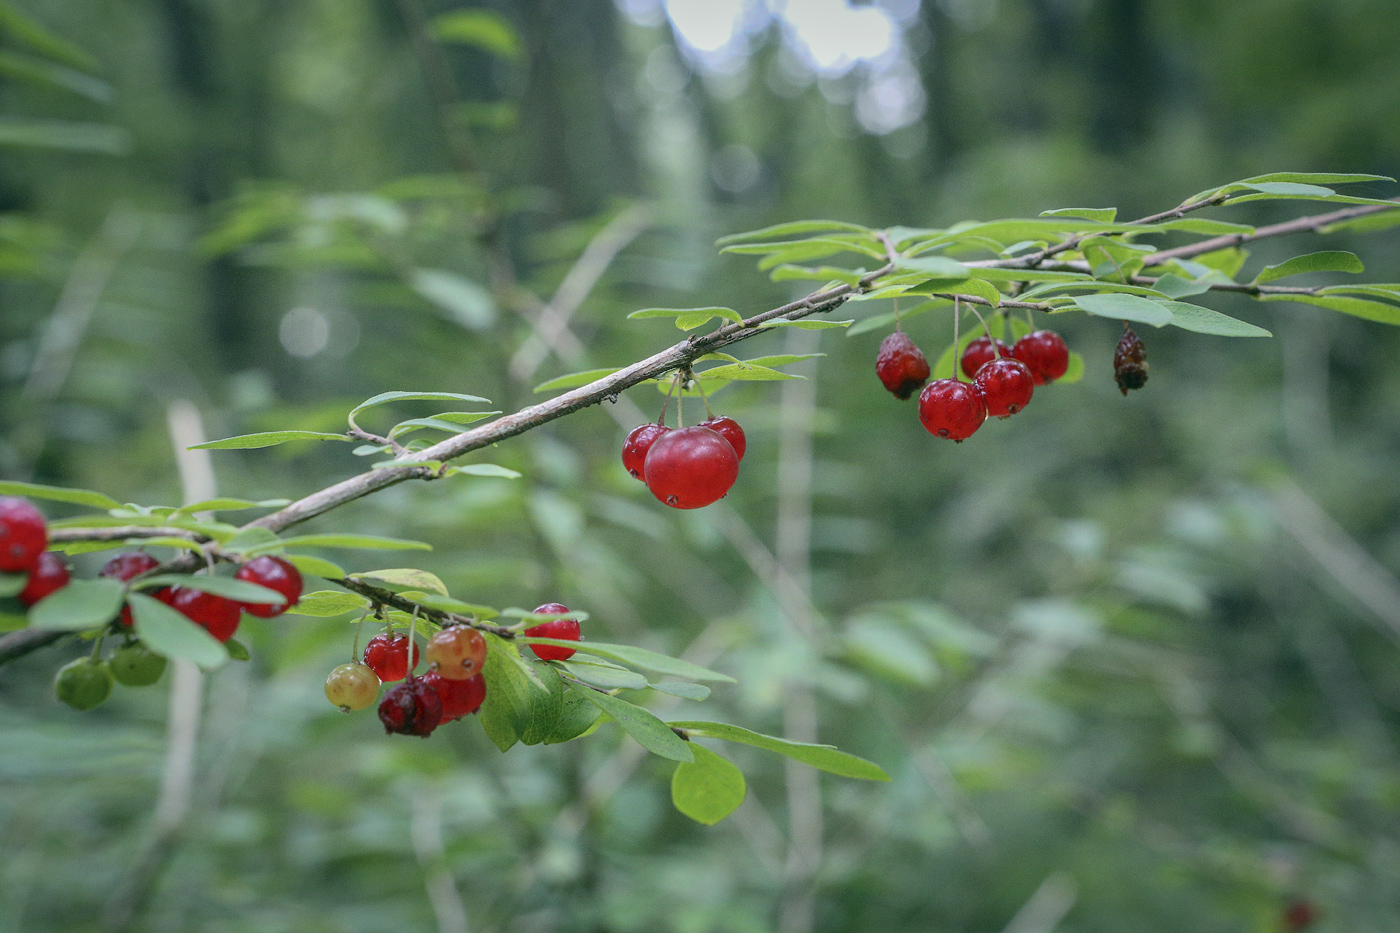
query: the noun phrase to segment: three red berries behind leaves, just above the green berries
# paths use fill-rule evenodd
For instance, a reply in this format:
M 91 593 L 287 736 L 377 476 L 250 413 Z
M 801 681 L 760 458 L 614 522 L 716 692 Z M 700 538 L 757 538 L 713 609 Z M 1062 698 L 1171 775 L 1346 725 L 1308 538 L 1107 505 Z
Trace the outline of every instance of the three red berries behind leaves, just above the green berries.
M 102 572 L 98 576 L 122 580 L 125 583 L 141 576 L 143 573 L 150 573 L 158 566 L 160 562 L 151 555 L 141 553 L 139 551 L 129 551 L 108 560 L 106 566 L 102 567 Z M 283 595 L 284 601 L 238 602 L 237 600 L 228 600 L 225 597 L 214 595 L 213 593 L 195 590 L 193 587 L 165 587 L 162 590 L 157 590 L 153 595 L 189 621 L 202 626 L 220 642 L 227 642 L 234 637 L 244 612 L 256 615 L 262 619 L 270 619 L 276 615 L 281 615 L 291 607 L 297 605 L 301 600 L 301 572 L 281 558 L 273 558 L 270 555 L 253 558 L 238 567 L 238 573 L 234 576 L 239 580 L 256 583 L 260 587 L 274 590 Z M 130 607 L 122 607 L 122 625 L 132 625 Z

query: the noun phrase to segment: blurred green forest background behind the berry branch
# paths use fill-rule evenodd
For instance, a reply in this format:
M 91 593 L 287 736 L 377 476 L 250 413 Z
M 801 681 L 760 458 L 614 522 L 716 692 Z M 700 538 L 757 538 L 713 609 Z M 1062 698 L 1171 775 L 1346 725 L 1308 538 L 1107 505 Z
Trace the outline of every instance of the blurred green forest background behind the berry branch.
M 1393 0 L 4 0 L 0 476 L 175 504 L 190 412 L 223 437 L 342 430 L 388 389 L 514 410 L 676 339 L 633 310 L 791 298 L 717 254 L 736 230 L 1400 175 L 1397 113 Z M 1397 247 L 1316 248 L 1396 282 Z M 1065 315 L 1085 378 L 958 447 L 875 380 L 881 331 L 757 338 L 826 356 L 713 399 L 749 454 L 697 513 L 617 462 L 643 387 L 490 451 L 521 479 L 318 524 L 718 667 L 707 716 L 889 785 L 739 754 L 748 800 L 704 828 L 616 730 L 501 755 L 475 721 L 342 716 L 343 621 L 245 625 L 252 661 L 178 709 L 169 678 L 59 705 L 73 646 L 0 671 L 0 930 L 1274 933 L 1298 902 L 1396 929 L 1400 333 L 1211 304 L 1274 339 L 1149 332 L 1123 398 L 1117 325 Z M 217 452 L 217 492 L 357 469 L 330 447 Z

